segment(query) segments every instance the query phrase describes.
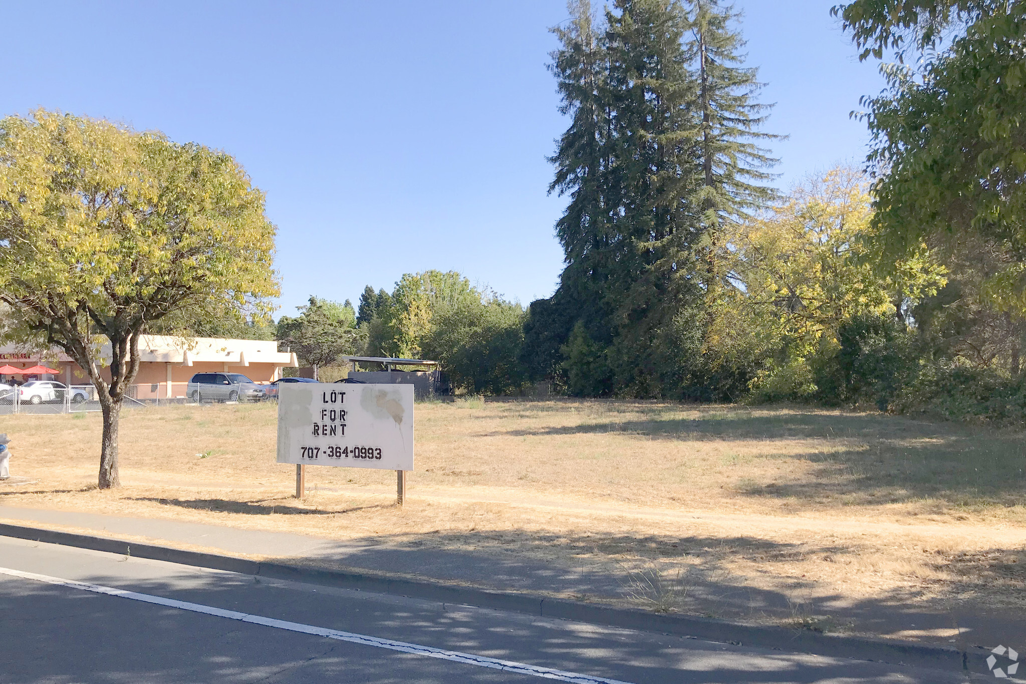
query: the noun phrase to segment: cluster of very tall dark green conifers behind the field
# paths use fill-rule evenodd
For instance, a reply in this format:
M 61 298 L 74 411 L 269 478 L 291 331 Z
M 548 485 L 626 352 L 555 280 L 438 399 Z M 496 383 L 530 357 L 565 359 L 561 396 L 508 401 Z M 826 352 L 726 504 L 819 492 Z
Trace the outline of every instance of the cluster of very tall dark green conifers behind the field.
M 569 195 L 556 225 L 566 268 L 549 304 L 531 307 L 525 360 L 535 377 L 576 373 L 577 393 L 707 394 L 685 387 L 709 368 L 681 341 L 706 321 L 681 313 L 715 289 L 720 225 L 774 196 L 758 185 L 774 160 L 751 140 L 773 136 L 757 130 L 766 108 L 755 70 L 739 66 L 737 14 L 710 0 L 618 0 L 604 26 L 588 2 L 570 12 L 553 30 L 551 66 L 571 119 L 551 159 L 551 190 Z M 578 323 L 590 341 L 573 332 Z M 556 352 L 583 359 L 593 347 L 608 370 L 601 383 Z M 717 377 L 717 393 L 736 381 Z

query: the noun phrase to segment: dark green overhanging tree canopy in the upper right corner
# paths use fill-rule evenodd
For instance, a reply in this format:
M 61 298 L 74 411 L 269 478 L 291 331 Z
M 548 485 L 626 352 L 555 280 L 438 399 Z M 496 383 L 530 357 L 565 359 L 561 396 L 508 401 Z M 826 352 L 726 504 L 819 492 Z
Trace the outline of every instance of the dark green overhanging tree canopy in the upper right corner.
M 992 305 L 1026 311 L 1026 5 L 857 0 L 833 11 L 862 58 L 899 59 L 882 67 L 889 88 L 863 99 L 887 254 L 926 242 L 955 258 L 982 241 L 1004 261 L 983 285 Z

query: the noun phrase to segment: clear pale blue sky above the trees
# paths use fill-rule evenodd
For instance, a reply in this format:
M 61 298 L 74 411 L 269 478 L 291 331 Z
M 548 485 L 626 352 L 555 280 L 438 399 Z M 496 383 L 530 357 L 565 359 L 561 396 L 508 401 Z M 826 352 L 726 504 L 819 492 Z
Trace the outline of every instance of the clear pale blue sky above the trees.
M 861 162 L 882 82 L 835 0 L 738 0 L 777 108 L 779 185 Z M 596 5 L 600 3 L 595 2 Z M 0 112 L 159 129 L 234 155 L 278 226 L 279 314 L 457 270 L 509 298 L 562 268 L 545 158 L 566 122 L 545 66 L 562 0 L 11 3 Z

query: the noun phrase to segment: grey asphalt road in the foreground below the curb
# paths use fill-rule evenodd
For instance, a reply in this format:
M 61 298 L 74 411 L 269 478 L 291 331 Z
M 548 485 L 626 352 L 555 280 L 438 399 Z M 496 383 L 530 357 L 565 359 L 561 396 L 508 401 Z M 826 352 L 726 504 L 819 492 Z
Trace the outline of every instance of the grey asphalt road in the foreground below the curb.
M 966 681 L 961 673 L 259 579 L 9 537 L 0 537 L 0 568 L 50 578 L 0 570 L 2 684 L 539 682 L 551 675 L 541 669 L 583 684 Z M 112 590 L 136 596 L 103 593 Z M 166 599 L 195 605 L 151 602 Z M 259 617 L 244 621 L 241 614 Z M 466 655 L 408 652 L 421 647 Z

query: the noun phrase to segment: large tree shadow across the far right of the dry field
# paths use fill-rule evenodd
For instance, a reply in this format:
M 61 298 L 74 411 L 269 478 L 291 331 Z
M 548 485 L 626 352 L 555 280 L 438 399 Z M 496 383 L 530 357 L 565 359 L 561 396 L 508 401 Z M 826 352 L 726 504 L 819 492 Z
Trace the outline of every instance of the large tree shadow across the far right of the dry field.
M 883 414 L 794 411 L 753 415 L 740 409 L 711 417 L 605 420 L 570 427 L 511 430 L 489 436 L 545 437 L 627 434 L 644 439 L 744 442 L 746 457 L 815 464 L 800 479 L 753 482 L 741 478 L 746 496 L 798 502 L 839 497 L 845 506 L 877 506 L 937 498 L 955 506 L 1026 505 L 1026 446 L 1012 431 L 932 424 Z M 482 435 L 483 436 L 483 435 Z M 804 440 L 793 453 L 758 453 L 758 443 Z M 822 443 L 810 452 L 807 441 Z M 814 443 L 815 443 L 814 442 Z M 744 475 L 744 465 L 737 467 Z

